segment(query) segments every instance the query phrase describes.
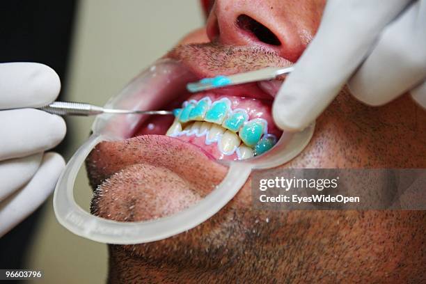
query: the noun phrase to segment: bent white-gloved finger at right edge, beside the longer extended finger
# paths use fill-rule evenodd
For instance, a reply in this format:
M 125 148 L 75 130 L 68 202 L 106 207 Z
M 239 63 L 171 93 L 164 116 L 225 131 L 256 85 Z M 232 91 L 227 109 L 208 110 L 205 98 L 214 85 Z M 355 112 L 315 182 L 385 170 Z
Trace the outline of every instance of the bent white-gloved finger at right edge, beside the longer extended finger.
M 425 77 L 426 0 L 422 0 L 386 27 L 348 86 L 361 102 L 379 106 L 411 90 Z

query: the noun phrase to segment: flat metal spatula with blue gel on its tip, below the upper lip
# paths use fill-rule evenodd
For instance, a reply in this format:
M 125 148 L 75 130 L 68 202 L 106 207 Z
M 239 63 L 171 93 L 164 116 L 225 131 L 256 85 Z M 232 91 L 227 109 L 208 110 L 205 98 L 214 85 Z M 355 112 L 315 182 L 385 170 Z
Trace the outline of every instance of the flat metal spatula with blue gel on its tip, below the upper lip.
M 191 93 L 197 93 L 202 90 L 211 90 L 213 88 L 221 88 L 225 86 L 234 86 L 255 81 L 271 80 L 276 77 L 288 74 L 294 70 L 293 66 L 283 67 L 267 67 L 259 70 L 233 74 L 230 76 L 216 76 L 213 78 L 204 78 L 198 82 L 187 84 L 187 89 Z

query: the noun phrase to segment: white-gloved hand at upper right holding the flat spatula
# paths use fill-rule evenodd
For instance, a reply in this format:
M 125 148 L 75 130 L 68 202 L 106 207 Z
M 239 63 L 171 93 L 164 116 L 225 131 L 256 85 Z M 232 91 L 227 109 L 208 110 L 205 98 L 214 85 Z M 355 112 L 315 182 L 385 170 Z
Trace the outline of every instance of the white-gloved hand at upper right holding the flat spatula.
M 426 108 L 426 0 L 329 0 L 317 35 L 287 76 L 273 107 L 285 130 L 308 126 L 348 81 L 379 106 L 411 90 Z

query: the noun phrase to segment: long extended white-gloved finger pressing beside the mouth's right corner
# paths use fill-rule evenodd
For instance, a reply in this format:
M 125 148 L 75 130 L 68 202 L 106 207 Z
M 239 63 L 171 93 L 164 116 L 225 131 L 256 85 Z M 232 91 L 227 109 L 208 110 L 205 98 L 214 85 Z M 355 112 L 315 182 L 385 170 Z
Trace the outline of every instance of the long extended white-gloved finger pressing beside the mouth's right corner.
M 409 0 L 330 0 L 317 35 L 276 95 L 272 114 L 287 131 L 308 126 L 336 97 L 384 26 Z

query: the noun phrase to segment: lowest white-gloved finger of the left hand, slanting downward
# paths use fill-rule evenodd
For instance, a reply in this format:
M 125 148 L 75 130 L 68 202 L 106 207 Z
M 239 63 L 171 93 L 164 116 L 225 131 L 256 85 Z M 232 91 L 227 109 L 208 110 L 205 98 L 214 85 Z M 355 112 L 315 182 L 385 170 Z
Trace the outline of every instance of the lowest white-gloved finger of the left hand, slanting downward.
M 64 166 L 65 161 L 61 155 L 46 153 L 30 182 L 0 203 L 0 237 L 46 200 L 54 190 Z

